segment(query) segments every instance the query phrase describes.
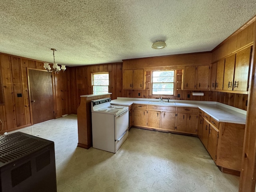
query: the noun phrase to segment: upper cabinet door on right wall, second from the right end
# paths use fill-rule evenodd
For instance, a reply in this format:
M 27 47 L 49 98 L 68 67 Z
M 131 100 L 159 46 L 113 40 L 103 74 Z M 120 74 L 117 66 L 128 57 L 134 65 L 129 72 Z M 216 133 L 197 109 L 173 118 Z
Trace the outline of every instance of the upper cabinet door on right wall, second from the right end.
M 234 54 L 225 60 L 223 90 L 233 90 L 235 58 Z

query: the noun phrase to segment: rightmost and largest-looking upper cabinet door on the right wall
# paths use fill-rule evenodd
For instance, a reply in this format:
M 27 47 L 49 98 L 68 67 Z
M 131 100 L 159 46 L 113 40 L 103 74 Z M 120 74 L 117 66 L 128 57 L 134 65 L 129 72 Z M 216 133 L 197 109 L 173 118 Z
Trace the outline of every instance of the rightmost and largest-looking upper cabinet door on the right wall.
M 234 75 L 234 91 L 247 91 L 250 66 L 251 47 L 236 54 L 236 68 Z

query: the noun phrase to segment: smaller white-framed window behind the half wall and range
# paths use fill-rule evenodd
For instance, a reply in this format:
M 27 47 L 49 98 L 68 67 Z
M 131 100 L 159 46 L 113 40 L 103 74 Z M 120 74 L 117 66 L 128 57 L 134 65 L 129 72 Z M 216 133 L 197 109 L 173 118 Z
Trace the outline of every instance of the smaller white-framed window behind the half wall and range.
M 93 94 L 108 93 L 109 75 L 106 73 L 93 73 L 92 74 L 92 91 Z

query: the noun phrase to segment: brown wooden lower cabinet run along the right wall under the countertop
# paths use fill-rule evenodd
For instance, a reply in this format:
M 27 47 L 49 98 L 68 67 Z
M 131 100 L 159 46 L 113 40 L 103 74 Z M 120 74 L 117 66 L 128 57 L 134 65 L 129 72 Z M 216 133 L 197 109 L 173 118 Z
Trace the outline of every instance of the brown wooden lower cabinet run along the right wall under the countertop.
M 198 137 L 222 172 L 239 175 L 245 125 L 218 122 L 205 113 L 203 116 L 203 123 L 198 122 Z M 199 116 L 200 120 L 202 116 Z M 200 130 L 202 130 L 202 136 L 200 136 Z

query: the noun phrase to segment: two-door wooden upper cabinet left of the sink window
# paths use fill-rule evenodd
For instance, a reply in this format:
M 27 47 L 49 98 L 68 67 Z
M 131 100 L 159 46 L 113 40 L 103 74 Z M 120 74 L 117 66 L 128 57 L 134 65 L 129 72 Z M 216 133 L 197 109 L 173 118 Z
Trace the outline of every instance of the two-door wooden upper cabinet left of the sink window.
M 144 70 L 126 69 L 123 76 L 124 89 L 143 89 L 144 88 Z

